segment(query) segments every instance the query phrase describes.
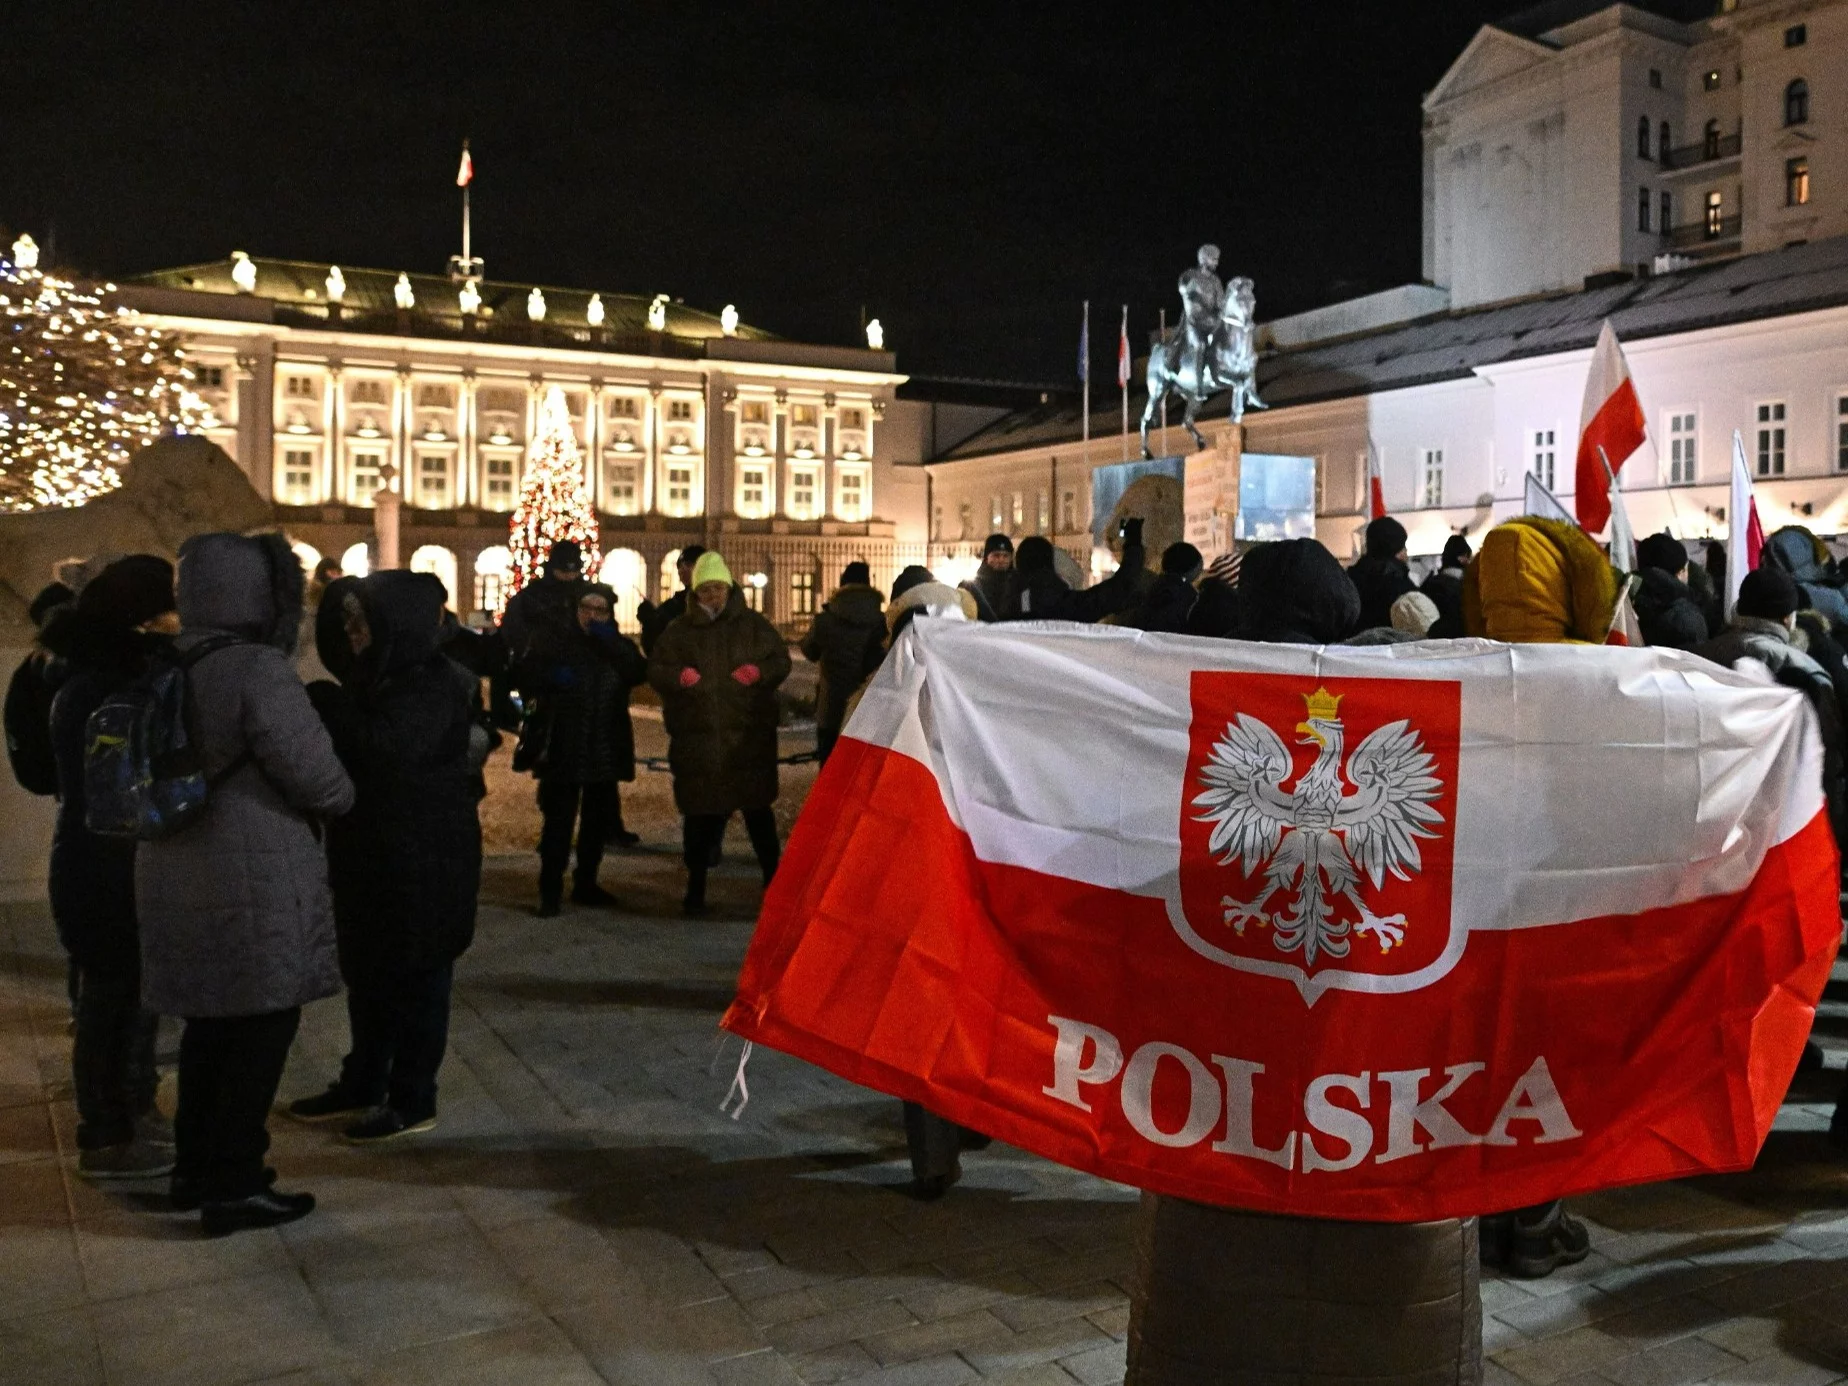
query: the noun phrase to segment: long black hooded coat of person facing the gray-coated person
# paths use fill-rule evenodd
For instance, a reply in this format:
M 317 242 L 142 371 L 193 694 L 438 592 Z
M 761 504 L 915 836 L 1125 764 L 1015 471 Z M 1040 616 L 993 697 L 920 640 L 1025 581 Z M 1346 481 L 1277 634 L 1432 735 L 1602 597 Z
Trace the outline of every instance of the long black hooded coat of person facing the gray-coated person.
M 342 586 L 329 597 L 342 599 Z M 371 647 L 342 662 L 338 687 L 310 689 L 355 789 L 353 811 L 327 826 L 347 983 L 460 957 L 475 939 L 480 889 L 480 791 L 469 752 L 479 684 L 438 649 L 442 584 L 386 571 L 353 588 Z

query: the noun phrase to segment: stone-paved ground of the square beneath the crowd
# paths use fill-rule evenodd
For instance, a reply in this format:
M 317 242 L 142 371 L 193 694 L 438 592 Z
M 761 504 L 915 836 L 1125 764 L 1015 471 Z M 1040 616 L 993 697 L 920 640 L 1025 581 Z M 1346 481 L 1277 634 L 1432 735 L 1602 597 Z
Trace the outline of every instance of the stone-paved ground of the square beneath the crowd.
M 530 857 L 490 859 L 438 1129 L 355 1149 L 277 1116 L 320 1210 L 216 1242 L 157 1186 L 74 1177 L 61 954 L 43 904 L 0 906 L 0 1382 L 1120 1382 L 1133 1190 L 994 1146 L 915 1203 L 898 1103 L 761 1050 L 719 1112 L 748 876 L 719 880 L 732 918 L 682 922 L 673 856 L 625 854 L 632 911 L 536 920 Z M 285 1098 L 344 1039 L 310 1007 Z M 1489 1386 L 1848 1375 L 1839 1077 L 1802 1081 L 1754 1173 L 1578 1199 L 1584 1266 L 1488 1279 Z

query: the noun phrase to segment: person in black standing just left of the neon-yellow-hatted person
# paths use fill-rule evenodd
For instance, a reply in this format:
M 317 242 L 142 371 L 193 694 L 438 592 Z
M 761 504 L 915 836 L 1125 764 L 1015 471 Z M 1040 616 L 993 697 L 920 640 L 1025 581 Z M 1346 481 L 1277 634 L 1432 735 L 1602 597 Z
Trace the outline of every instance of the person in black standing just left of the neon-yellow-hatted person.
M 636 726 L 628 697 L 647 676 L 636 641 L 615 626 L 615 593 L 591 584 L 578 593 L 569 626 L 534 638 L 521 663 L 519 686 L 534 700 L 521 736 L 516 769 L 540 780 L 540 907 L 558 913 L 571 830 L 577 828 L 577 870 L 571 900 L 610 909 L 615 896 L 597 872 L 602 848 L 623 822 L 617 785 L 636 778 Z

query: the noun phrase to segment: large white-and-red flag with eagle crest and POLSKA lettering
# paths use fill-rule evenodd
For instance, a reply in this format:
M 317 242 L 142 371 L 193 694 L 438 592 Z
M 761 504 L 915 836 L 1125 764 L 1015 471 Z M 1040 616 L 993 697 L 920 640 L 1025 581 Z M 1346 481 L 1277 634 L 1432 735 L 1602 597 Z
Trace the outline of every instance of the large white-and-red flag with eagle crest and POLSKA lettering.
M 922 619 L 724 1024 L 1220 1205 L 1737 1170 L 1841 935 L 1820 763 L 1802 695 L 1678 650 Z

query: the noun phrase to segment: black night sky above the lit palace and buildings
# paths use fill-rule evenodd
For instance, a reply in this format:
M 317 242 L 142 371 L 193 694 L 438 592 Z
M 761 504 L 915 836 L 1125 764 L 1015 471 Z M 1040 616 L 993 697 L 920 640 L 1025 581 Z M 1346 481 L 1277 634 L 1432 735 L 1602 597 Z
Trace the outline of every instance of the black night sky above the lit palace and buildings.
M 1096 377 L 1201 240 L 1271 318 L 1419 275 L 1419 96 L 1515 4 L 7 9 L 0 227 L 654 294 L 902 370 Z M 458 20 L 458 15 L 473 18 Z

